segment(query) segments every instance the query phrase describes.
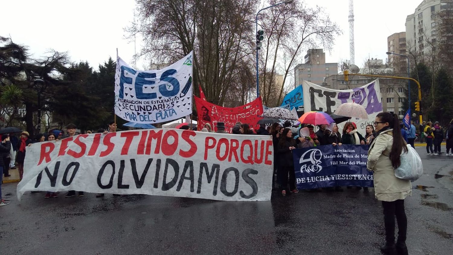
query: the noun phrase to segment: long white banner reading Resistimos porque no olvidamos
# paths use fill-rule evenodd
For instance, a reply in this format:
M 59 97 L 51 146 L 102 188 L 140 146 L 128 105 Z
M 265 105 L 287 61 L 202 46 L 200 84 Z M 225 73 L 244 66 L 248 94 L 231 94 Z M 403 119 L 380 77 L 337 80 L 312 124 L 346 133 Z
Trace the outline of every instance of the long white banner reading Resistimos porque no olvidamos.
M 270 136 L 192 130 L 77 135 L 27 148 L 26 191 L 148 194 L 228 201 L 270 200 Z

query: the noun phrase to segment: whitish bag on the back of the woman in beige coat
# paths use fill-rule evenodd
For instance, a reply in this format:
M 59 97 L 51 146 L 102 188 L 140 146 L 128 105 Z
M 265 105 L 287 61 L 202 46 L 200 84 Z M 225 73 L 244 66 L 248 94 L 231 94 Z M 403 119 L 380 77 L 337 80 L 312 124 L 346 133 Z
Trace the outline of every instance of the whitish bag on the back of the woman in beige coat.
M 401 164 L 395 169 L 395 177 L 403 180 L 415 181 L 423 174 L 423 164 L 415 149 L 407 144 L 407 152 L 401 152 Z

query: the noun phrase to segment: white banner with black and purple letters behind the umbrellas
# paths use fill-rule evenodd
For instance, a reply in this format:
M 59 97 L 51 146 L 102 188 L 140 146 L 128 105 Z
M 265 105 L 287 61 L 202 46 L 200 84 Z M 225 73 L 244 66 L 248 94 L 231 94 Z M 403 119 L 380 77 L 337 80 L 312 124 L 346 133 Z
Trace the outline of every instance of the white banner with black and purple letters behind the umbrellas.
M 362 87 L 349 90 L 333 90 L 304 81 L 304 108 L 307 111 L 323 111 L 332 114 L 342 103 L 356 102 L 365 107 L 368 120 L 352 118 L 357 125 L 358 132 L 365 136 L 366 125 L 372 125 L 376 115 L 382 112 L 381 92 L 379 80 L 374 80 Z M 342 133 L 342 125 L 338 125 Z

